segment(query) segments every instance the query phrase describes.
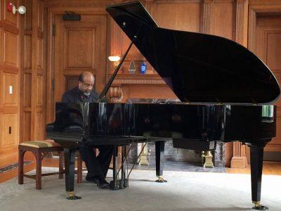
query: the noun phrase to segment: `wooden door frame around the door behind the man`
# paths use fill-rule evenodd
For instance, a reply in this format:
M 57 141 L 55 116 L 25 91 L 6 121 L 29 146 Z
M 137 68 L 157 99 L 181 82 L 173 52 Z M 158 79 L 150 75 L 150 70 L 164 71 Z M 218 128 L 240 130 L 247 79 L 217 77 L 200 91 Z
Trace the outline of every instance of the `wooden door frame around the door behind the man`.
M 108 24 L 109 18 L 108 14 L 104 8 L 92 8 L 92 7 L 68 7 L 68 6 L 58 6 L 58 7 L 48 7 L 48 15 L 46 17 L 47 22 L 47 72 L 46 72 L 46 124 L 53 122 L 54 120 L 54 106 L 53 106 L 53 79 L 54 79 L 54 36 L 53 36 L 53 24 L 55 23 L 55 15 L 63 15 L 65 11 L 79 11 L 81 15 L 106 15 L 107 23 L 107 41 L 109 36 Z M 83 12 L 81 12 L 83 11 Z M 106 46 L 106 55 L 109 55 L 108 44 Z M 108 72 L 108 62 L 105 64 L 105 77 Z

